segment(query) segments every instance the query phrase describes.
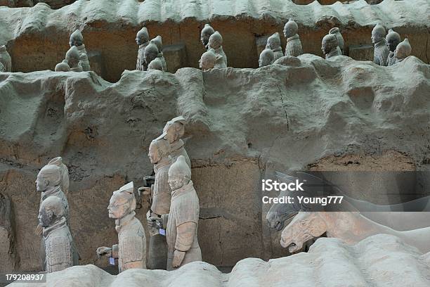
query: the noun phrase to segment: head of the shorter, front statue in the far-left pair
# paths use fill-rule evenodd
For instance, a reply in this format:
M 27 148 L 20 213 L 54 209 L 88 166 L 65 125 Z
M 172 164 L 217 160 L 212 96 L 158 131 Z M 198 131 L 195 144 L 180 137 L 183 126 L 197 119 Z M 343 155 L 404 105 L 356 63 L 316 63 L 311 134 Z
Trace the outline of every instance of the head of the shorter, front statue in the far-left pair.
M 39 209 L 39 224 L 41 227 L 50 227 L 65 216 L 63 202 L 57 196 L 49 196 L 42 201 Z

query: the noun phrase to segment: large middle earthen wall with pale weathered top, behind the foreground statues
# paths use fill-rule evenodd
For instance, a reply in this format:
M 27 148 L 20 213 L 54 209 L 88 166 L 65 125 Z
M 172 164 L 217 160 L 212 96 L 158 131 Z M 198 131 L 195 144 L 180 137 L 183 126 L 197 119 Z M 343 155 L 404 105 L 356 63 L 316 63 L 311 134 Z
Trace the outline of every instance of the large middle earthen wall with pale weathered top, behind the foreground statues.
M 270 206 L 261 203 L 261 178 L 277 170 L 355 166 L 360 157 L 360 167 L 429 168 L 429 65 L 413 56 L 391 67 L 346 56 L 299 60 L 259 69 L 126 71 L 115 84 L 93 72 L 0 73 L 0 192 L 13 203 L 19 268 L 39 266 L 32 240 L 39 167 L 63 157 L 81 262 L 103 266 L 94 250 L 117 237 L 106 212 L 111 191 L 129 181 L 143 186 L 152 172 L 150 141 L 177 115 L 188 121 L 202 258 L 216 266 L 287 253 L 266 224 Z M 145 222 L 146 200 L 138 208 Z

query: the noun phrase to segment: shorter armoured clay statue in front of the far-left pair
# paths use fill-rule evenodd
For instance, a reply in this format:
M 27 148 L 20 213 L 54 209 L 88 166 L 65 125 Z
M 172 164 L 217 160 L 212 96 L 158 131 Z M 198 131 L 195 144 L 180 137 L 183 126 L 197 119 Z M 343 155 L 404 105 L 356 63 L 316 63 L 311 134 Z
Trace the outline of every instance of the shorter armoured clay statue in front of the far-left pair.
M 63 200 L 49 196 L 39 209 L 39 224 L 43 227 L 46 272 L 57 272 L 74 264 L 74 244 L 65 217 Z

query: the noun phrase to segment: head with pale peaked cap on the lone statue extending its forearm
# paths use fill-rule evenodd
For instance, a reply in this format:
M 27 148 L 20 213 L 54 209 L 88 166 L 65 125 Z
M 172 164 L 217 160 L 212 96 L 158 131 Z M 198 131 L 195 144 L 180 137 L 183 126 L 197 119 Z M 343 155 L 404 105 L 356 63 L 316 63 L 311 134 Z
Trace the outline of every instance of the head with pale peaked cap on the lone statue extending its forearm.
M 136 210 L 136 198 L 133 193 L 133 181 L 122 186 L 121 189 L 114 191 L 107 206 L 109 217 L 122 219 Z

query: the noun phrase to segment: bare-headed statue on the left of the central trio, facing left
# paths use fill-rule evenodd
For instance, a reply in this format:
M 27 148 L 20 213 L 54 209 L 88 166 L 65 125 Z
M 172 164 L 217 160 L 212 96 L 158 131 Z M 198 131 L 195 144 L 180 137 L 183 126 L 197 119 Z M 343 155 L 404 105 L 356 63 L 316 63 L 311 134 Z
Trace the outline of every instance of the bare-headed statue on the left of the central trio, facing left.
M 152 63 L 152 62 L 151 62 Z M 155 180 L 151 187 L 143 187 L 146 194 L 151 194 L 152 203 L 148 211 L 148 229 L 150 245 L 148 267 L 151 269 L 167 268 L 167 241 L 162 215 L 169 214 L 171 190 L 169 186 L 169 141 L 158 138 L 151 142 L 148 157 L 154 164 Z M 159 230 L 163 229 L 163 230 Z

